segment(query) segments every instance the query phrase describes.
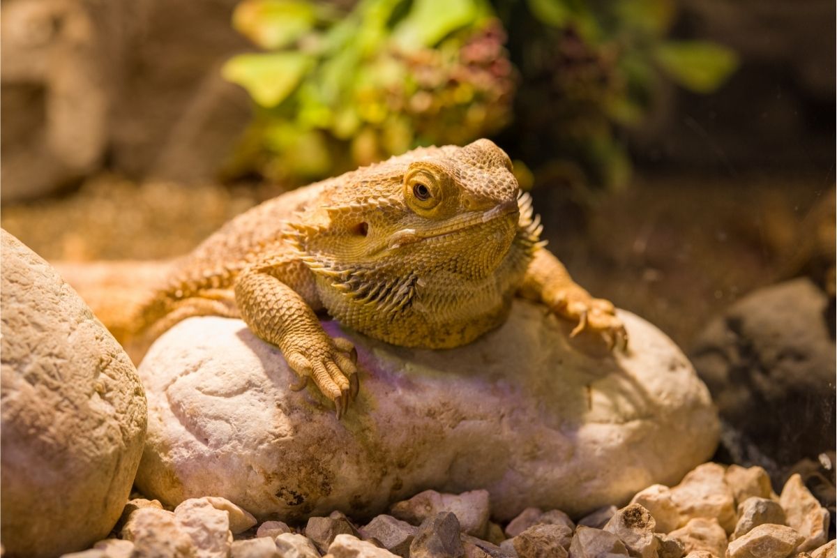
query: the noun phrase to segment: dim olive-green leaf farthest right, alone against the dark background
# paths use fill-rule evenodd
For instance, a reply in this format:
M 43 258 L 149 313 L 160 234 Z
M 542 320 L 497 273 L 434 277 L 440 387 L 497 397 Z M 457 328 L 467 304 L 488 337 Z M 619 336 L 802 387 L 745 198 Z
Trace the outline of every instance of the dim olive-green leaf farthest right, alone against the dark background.
M 702 41 L 660 44 L 654 58 L 671 79 L 696 93 L 716 90 L 738 67 L 732 49 Z

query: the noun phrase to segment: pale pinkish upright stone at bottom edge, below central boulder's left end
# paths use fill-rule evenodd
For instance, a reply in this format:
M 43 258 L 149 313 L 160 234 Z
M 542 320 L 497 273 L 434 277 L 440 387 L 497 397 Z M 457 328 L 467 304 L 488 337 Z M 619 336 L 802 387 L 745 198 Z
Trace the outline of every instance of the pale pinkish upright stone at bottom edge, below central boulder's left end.
M 226 558 L 233 544 L 229 514 L 217 509 L 206 498 L 183 501 L 174 509 L 180 529 L 192 537 L 198 558 Z

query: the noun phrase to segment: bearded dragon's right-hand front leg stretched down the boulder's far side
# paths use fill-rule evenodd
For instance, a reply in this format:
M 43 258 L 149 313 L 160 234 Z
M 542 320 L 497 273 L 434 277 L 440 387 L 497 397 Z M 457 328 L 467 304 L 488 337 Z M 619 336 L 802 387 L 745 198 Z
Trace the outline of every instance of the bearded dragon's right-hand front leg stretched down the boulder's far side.
M 628 347 L 628 332 L 615 315 L 613 303 L 593 298 L 573 281 L 567 268 L 546 249 L 539 248 L 535 252 L 519 294 L 542 302 L 567 320 L 578 321 L 571 337 L 591 330 L 602 335 L 610 348 L 618 345 L 624 350 Z

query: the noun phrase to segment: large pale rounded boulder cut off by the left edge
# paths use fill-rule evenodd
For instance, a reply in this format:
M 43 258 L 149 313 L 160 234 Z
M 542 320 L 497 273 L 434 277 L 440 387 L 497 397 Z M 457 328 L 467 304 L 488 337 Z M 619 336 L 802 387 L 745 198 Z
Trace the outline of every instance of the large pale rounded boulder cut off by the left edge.
M 0 233 L 2 538 L 7 556 L 90 547 L 119 520 L 146 399 L 125 351 L 43 259 Z

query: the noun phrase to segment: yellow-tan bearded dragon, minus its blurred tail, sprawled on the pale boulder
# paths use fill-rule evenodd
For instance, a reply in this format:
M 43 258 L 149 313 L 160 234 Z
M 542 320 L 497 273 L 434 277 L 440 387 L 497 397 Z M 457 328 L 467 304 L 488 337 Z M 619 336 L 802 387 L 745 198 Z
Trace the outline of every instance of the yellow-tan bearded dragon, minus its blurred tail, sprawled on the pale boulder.
M 627 346 L 614 305 L 593 298 L 539 239 L 531 199 L 489 140 L 424 147 L 285 193 L 182 259 L 137 318 L 153 339 L 190 316 L 241 318 L 336 406 L 358 392 L 357 353 L 318 312 L 398 346 L 465 345 L 515 295 Z

